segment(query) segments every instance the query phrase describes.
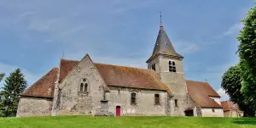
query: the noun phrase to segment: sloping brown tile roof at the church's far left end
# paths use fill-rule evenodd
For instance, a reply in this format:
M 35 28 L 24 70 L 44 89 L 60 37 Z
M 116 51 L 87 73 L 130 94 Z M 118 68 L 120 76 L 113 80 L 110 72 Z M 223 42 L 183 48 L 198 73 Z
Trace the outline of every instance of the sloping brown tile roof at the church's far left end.
M 32 86 L 28 87 L 25 92 L 20 93 L 20 96 L 53 97 L 57 72 L 58 68 L 53 68 Z

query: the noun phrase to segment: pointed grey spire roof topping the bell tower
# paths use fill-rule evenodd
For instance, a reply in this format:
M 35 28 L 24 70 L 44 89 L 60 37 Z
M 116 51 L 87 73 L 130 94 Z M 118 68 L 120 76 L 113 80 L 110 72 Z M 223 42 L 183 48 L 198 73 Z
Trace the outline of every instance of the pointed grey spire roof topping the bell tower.
M 154 51 L 150 58 L 148 58 L 147 62 L 150 61 L 152 58 L 156 57 L 158 54 L 164 54 L 173 56 L 176 58 L 183 58 L 180 54 L 178 54 L 174 47 L 172 46 L 172 42 L 170 41 L 169 37 L 164 30 L 164 27 L 161 25 L 160 30 L 154 44 Z

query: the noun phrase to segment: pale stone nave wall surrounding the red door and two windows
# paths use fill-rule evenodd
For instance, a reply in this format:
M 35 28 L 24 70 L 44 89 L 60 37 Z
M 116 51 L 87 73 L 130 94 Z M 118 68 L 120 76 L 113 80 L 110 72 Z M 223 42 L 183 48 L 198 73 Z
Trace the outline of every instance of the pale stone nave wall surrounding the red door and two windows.
M 136 93 L 136 105 L 131 105 L 131 92 Z M 160 94 L 160 105 L 154 104 L 154 94 Z M 116 114 L 120 106 L 121 115 L 167 115 L 167 92 L 110 87 L 107 93 L 108 111 Z

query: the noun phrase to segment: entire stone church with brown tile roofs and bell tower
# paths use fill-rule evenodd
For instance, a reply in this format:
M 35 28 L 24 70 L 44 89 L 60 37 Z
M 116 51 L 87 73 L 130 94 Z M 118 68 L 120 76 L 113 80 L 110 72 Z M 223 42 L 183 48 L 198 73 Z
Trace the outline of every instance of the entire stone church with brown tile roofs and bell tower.
M 61 59 L 59 67 L 20 93 L 17 117 L 87 114 L 223 117 L 207 82 L 188 81 L 183 56 L 160 25 L 148 69 Z

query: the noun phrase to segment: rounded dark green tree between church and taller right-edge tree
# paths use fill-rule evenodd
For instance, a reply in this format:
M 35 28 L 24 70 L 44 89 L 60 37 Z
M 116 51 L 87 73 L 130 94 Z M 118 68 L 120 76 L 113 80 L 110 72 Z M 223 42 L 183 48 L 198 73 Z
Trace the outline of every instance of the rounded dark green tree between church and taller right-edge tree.
M 237 103 L 239 109 L 243 110 L 243 116 L 254 116 L 255 111 L 250 103 L 245 102 L 245 97 L 241 93 L 241 69 L 239 65 L 230 67 L 222 76 L 221 87 L 230 96 L 230 100 Z

